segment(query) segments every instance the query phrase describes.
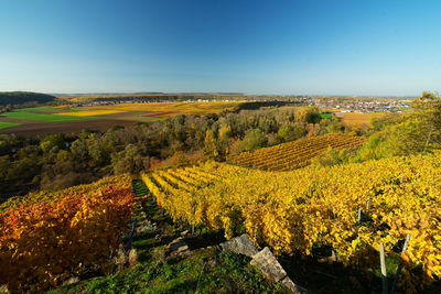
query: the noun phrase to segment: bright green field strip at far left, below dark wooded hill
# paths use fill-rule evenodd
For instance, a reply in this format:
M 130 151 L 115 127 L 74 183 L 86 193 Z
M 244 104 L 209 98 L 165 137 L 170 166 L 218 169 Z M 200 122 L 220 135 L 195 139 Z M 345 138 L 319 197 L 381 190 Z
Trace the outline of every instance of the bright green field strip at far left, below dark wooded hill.
M 24 108 L 18 109 L 10 112 L 6 112 L 0 118 L 6 117 L 10 119 L 25 119 L 25 120 L 41 120 L 41 121 L 69 121 L 69 120 L 88 120 L 96 119 L 95 117 L 74 117 L 74 116 L 57 116 L 57 115 L 44 115 L 35 113 L 34 111 L 47 111 L 46 107 L 37 108 Z

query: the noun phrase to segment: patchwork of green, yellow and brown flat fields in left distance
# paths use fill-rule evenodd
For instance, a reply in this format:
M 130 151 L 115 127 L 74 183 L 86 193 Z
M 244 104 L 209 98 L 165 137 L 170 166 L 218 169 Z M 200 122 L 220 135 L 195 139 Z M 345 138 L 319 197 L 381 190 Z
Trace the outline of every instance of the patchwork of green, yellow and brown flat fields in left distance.
M 0 133 L 35 137 L 47 133 L 77 133 L 82 129 L 106 131 L 112 126 L 154 122 L 178 115 L 218 113 L 234 110 L 237 102 L 155 102 L 110 106 L 36 107 L 0 115 Z

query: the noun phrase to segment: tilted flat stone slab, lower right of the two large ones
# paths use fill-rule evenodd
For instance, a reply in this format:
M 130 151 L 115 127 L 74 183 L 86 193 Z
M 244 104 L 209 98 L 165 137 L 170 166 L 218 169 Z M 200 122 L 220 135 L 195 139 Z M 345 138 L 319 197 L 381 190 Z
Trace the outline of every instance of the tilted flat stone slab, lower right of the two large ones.
M 262 272 L 263 276 L 273 283 L 287 276 L 287 272 L 268 247 L 254 255 L 250 263 L 256 265 Z

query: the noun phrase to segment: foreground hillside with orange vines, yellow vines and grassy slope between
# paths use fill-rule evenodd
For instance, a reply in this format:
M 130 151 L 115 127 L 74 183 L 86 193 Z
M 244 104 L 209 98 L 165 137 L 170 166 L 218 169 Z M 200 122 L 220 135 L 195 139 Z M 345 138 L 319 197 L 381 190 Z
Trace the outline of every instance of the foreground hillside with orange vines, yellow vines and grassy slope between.
M 84 281 L 61 288 L 71 293 L 275 291 L 247 265 L 249 259 L 207 248 L 245 232 L 313 292 L 377 293 L 383 243 L 388 276 L 402 264 L 397 290 L 422 293 L 439 286 L 441 274 L 440 166 L 439 152 L 292 172 L 207 162 L 144 173 L 147 188 L 133 185 L 135 194 L 127 175 L 31 193 L 1 207 L 0 271 L 7 272 L 0 276 L 7 279 L 0 282 L 14 290 L 47 290 L 79 276 Z M 190 235 L 192 226 L 196 235 Z M 185 236 L 191 252 L 173 258 L 168 250 L 179 236 Z M 406 236 L 407 250 L 399 253 Z M 101 254 L 109 244 L 112 250 Z M 119 257 L 116 249 L 130 244 L 136 252 Z M 7 265 L 11 259 L 17 266 Z M 40 272 L 18 274 L 33 262 Z M 106 276 L 90 280 L 96 275 Z M 255 282 L 244 283 L 244 276 Z

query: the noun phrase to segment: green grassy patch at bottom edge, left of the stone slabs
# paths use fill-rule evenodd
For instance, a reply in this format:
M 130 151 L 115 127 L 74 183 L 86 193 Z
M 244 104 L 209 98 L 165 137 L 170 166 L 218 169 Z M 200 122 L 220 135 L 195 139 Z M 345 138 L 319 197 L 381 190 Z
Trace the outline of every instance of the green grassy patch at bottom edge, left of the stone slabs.
M 133 246 L 150 252 L 137 266 L 52 293 L 283 293 L 269 286 L 249 258 L 203 249 L 185 259 L 164 260 L 163 247 L 149 238 Z

